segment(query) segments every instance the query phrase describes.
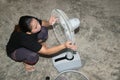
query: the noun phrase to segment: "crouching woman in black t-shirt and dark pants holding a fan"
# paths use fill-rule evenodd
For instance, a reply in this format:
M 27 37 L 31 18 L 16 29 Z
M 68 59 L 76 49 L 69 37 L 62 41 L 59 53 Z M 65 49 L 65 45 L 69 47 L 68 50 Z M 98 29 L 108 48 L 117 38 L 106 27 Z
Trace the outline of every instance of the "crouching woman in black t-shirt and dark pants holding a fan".
M 55 21 L 54 17 L 51 17 L 49 21 L 33 16 L 20 17 L 6 46 L 7 55 L 14 61 L 23 62 L 27 71 L 34 71 L 39 54 L 52 55 L 65 48 L 75 50 L 76 46 L 71 45 L 70 41 L 52 48 L 47 48 L 43 44 L 48 38 L 47 27 L 54 24 Z

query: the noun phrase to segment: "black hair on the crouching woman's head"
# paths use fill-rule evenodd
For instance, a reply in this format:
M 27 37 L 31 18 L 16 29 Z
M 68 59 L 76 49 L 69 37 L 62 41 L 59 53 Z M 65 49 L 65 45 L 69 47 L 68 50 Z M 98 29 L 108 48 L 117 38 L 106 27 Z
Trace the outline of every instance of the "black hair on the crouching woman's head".
M 30 22 L 32 21 L 33 18 L 38 20 L 36 17 L 28 16 L 28 15 L 20 17 L 18 25 L 22 32 L 30 32 L 31 31 Z

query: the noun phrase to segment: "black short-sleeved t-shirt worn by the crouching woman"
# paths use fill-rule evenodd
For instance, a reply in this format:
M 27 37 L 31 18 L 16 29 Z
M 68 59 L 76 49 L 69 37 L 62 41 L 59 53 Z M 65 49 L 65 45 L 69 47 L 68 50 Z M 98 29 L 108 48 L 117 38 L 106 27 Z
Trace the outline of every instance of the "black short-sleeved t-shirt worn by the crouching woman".
M 39 20 L 39 23 L 41 25 L 42 21 Z M 6 45 L 7 55 L 11 56 L 11 53 L 16 49 L 23 47 L 33 52 L 38 52 L 42 48 L 42 45 L 38 43 L 37 35 L 38 33 L 29 35 L 24 32 L 13 31 Z

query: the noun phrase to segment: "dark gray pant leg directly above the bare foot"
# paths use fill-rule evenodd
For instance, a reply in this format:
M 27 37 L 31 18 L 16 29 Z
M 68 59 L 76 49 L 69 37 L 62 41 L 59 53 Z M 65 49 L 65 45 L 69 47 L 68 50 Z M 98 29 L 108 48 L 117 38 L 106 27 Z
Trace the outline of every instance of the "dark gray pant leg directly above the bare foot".
M 17 62 L 24 62 L 29 65 L 35 65 L 39 60 L 39 54 L 26 48 L 19 48 L 12 53 L 11 58 Z

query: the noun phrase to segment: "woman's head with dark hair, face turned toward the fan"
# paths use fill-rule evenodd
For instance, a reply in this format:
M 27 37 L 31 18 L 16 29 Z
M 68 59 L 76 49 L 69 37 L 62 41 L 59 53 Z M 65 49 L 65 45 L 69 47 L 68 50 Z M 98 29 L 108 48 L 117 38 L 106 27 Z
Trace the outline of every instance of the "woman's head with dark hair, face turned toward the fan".
M 31 33 L 37 33 L 41 29 L 38 19 L 33 16 L 20 17 L 19 27 L 22 32 L 31 32 Z

